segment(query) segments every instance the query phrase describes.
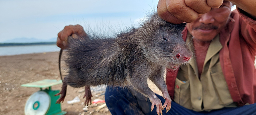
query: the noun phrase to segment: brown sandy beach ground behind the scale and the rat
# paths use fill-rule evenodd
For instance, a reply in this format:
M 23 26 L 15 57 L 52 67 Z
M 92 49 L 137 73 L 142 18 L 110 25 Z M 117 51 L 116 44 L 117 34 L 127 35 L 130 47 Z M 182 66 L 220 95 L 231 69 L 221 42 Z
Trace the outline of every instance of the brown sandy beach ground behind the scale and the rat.
M 65 75 L 65 66 L 62 67 Z M 58 52 L 47 52 L 40 54 L 25 54 L 14 56 L 0 56 L 0 113 L 1 115 L 24 115 L 24 107 L 30 95 L 37 92 L 39 88 L 21 87 L 21 84 L 36 82 L 43 79 L 61 80 L 58 71 Z M 152 83 L 150 88 L 156 93 L 160 93 Z M 61 90 L 62 84 L 52 87 L 53 90 Z M 91 88 L 95 89 L 95 88 Z M 103 90 L 92 90 L 92 100 L 104 100 Z M 111 115 L 107 106 L 97 109 L 104 103 L 88 106 L 88 111 L 84 111 L 83 99 L 84 89 L 67 87 L 67 95 L 62 105 L 62 110 L 66 115 Z M 96 96 L 97 95 L 97 96 Z M 79 96 L 80 102 L 67 104 Z

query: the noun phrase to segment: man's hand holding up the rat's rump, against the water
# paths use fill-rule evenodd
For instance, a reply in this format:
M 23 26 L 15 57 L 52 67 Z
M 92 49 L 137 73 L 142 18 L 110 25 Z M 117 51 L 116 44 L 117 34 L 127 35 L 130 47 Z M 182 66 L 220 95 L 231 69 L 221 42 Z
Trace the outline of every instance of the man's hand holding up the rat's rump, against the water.
M 61 49 L 66 49 L 67 47 L 67 38 L 72 34 L 76 34 L 77 36 L 86 36 L 86 33 L 82 26 L 80 25 L 69 25 L 65 26 L 62 31 L 58 33 L 57 43 L 56 45 Z

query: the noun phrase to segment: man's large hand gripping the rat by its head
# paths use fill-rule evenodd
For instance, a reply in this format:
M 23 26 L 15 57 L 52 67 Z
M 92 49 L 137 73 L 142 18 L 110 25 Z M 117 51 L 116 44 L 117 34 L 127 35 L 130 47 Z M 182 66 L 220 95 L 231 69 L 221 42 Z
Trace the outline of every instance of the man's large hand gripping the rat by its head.
M 194 21 L 199 14 L 218 8 L 223 0 L 159 0 L 157 13 L 163 20 L 171 23 Z

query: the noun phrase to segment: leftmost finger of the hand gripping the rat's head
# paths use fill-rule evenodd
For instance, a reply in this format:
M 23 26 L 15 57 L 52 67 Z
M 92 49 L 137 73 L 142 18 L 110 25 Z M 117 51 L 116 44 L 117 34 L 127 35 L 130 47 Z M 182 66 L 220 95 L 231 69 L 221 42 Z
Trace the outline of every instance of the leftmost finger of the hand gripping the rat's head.
M 166 8 L 166 0 L 159 0 L 157 4 L 158 16 L 170 23 L 180 24 L 183 21 L 173 16 Z

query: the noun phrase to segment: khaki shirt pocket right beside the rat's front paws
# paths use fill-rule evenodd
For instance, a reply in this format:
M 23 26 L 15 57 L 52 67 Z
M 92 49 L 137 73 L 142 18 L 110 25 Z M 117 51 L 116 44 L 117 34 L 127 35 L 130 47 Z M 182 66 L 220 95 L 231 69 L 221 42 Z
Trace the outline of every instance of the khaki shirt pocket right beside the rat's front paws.
M 185 108 L 193 109 L 190 99 L 189 80 L 183 82 L 178 78 L 175 79 L 174 102 Z

